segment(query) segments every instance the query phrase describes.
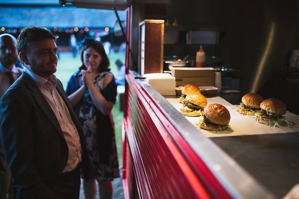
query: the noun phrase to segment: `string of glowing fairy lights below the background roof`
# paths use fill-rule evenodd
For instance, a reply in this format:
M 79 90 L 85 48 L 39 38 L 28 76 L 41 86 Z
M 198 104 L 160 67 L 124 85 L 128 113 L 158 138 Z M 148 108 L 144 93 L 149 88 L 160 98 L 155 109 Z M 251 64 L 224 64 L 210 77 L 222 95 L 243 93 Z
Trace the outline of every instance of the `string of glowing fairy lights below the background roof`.
M 111 32 L 113 32 L 113 29 L 109 29 L 108 27 L 104 28 L 104 29 L 89 29 L 88 27 L 85 28 L 44 28 L 49 30 L 52 33 L 55 32 L 65 32 L 65 33 L 75 33 L 75 32 L 79 32 L 79 33 L 84 33 L 86 32 L 87 34 L 89 34 L 89 36 L 99 36 L 99 37 L 103 37 L 103 36 L 107 36 L 108 34 L 110 34 Z M 18 32 L 20 33 L 22 31 L 21 29 L 16 29 L 16 28 L 5 28 L 5 27 L 1 27 L 0 33 L 10 33 L 10 34 L 17 34 Z

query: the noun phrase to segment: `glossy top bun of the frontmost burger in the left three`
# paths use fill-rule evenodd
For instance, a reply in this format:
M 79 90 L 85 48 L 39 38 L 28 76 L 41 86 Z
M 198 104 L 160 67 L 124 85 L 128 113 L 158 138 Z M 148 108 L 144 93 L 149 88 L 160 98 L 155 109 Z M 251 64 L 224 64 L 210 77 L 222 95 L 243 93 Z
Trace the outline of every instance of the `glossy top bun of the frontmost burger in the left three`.
M 225 125 L 230 122 L 230 112 L 221 104 L 210 104 L 205 108 L 204 115 L 215 124 Z

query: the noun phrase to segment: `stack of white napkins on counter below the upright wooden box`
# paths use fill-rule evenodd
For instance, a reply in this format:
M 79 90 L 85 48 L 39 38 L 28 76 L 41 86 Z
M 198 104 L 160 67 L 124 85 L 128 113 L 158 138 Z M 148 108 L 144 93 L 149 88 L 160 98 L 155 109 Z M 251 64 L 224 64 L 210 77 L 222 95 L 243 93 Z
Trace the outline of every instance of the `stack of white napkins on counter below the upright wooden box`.
M 175 95 L 175 77 L 169 73 L 150 73 L 143 77 L 161 95 Z

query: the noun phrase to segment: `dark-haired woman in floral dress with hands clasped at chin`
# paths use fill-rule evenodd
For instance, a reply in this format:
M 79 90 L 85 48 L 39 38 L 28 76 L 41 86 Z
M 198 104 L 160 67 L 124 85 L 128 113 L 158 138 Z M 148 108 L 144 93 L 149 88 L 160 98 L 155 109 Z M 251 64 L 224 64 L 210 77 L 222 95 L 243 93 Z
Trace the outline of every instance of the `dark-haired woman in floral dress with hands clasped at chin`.
M 120 176 L 111 113 L 116 101 L 116 84 L 102 43 L 86 39 L 81 61 L 82 66 L 69 79 L 66 93 L 83 127 L 96 170 L 93 179 L 83 184 L 85 198 L 96 197 L 97 180 L 100 198 L 111 199 L 111 181 Z

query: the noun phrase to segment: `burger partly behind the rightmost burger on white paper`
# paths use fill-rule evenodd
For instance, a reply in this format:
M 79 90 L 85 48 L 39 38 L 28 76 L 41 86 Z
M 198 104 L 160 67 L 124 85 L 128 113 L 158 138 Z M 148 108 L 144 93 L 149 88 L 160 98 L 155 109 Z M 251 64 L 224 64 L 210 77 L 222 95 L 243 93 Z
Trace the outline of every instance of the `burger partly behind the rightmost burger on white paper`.
M 256 111 L 260 110 L 259 105 L 263 100 L 263 97 L 258 93 L 247 93 L 242 97 L 238 111 L 243 115 L 254 115 Z

